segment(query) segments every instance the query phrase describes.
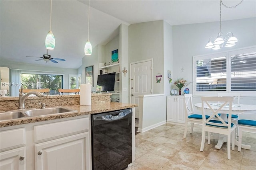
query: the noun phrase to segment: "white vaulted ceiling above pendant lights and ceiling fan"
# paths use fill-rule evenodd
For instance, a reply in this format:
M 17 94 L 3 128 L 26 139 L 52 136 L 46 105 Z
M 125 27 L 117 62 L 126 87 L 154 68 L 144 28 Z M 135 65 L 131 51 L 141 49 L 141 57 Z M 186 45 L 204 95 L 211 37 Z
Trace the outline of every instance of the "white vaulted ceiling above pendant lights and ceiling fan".
M 235 6 L 240 0 L 223 0 Z M 52 32 L 55 49 L 52 57 L 66 59 L 52 62 L 35 61 L 46 54 L 45 37 L 50 30 L 49 0 L 0 1 L 1 61 L 78 68 L 82 63 L 88 39 L 88 0 L 53 0 Z M 236 8 L 222 6 L 222 20 L 256 17 L 256 1 L 244 0 Z M 219 0 L 91 0 L 90 41 L 92 46 L 106 44 L 118 35 L 121 23 L 130 25 L 165 20 L 170 25 L 219 21 Z

